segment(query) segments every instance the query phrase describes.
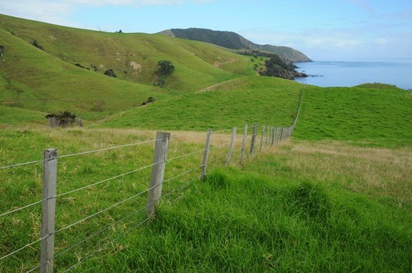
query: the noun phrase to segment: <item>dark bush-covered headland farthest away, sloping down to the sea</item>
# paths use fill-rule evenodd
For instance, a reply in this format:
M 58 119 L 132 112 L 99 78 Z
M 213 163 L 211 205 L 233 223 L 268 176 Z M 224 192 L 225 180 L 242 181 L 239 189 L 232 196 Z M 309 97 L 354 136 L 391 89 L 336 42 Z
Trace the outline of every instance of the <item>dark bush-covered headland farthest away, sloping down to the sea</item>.
M 250 40 L 247 40 L 235 32 L 222 32 L 218 30 L 192 27 L 188 29 L 167 29 L 159 33 L 176 38 L 199 40 L 206 43 L 220 45 L 221 47 L 227 47 L 229 49 L 264 50 L 269 53 L 277 54 L 280 57 L 286 58 L 293 62 L 311 62 L 308 56 L 291 47 L 258 45 L 252 43 Z

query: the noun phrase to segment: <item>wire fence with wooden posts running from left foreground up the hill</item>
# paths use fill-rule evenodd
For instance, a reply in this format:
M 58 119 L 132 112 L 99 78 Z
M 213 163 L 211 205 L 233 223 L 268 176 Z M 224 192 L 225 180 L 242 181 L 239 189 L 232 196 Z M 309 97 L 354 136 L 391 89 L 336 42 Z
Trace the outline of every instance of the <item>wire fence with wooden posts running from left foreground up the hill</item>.
M 253 131 L 251 134 L 248 134 L 247 126 L 215 132 L 209 130 L 207 134 L 189 133 L 192 134 L 190 137 L 201 139 L 198 143 L 190 145 L 181 141 L 187 136 L 174 137 L 168 133 L 158 132 L 156 138 L 138 143 L 62 156 L 52 154 L 42 160 L 0 167 L 1 171 L 43 163 L 43 198 L 30 204 L 0 211 L 0 224 L 3 229 L 13 229 L 14 225 L 19 225 L 19 221 L 23 221 L 19 220 L 19 216 L 26 222 L 29 219 L 32 222 L 21 233 L 17 230 L 7 232 L 3 230 L 3 235 L 0 236 L 0 272 L 36 272 L 37 270 L 68 272 L 78 268 L 80 264 L 95 257 L 104 248 L 108 248 L 120 238 L 148 223 L 161 199 L 165 200 L 172 193 L 181 193 L 181 189 L 189 187 L 193 181 L 199 180 L 199 177 L 204 179 L 207 168 L 241 165 L 247 158 L 253 158 L 254 154 L 262 152 L 264 148 L 278 145 L 288 139 L 295 130 L 300 105 L 301 99 L 295 121 L 288 128 L 255 124 L 251 128 Z M 199 137 L 201 135 L 206 137 L 205 142 L 203 137 Z M 74 164 L 76 166 L 68 171 L 65 165 L 65 170 L 58 172 L 57 168 L 61 168 L 62 165 L 57 163 L 62 158 L 118 150 L 123 147 L 142 146 L 143 148 L 145 144 L 153 143 L 155 143 L 154 149 L 144 148 L 151 150 L 153 157 L 150 158 L 147 152 L 142 152 L 146 154 L 146 158 L 141 159 L 145 164 L 140 167 L 125 170 L 125 166 L 131 163 L 126 163 L 124 160 L 109 161 L 109 165 L 116 163 L 120 165 L 117 168 L 118 174 L 95 179 L 86 185 L 76 184 L 79 187 L 73 189 L 67 189 L 70 183 L 56 185 L 57 177 L 67 178 L 75 172 L 73 170 L 80 168 Z M 199 146 L 203 143 L 205 147 L 200 149 Z M 148 163 L 150 159 L 153 163 Z M 83 162 L 93 165 L 93 161 Z M 148 173 L 150 169 L 151 174 Z M 93 178 L 100 176 L 100 174 L 93 174 L 93 171 L 91 173 Z M 49 176 L 52 177 L 52 181 L 48 180 Z M 149 180 L 150 184 L 147 187 Z M 54 185 L 47 186 L 49 182 Z M 50 193 L 47 187 L 54 187 L 54 192 Z M 161 194 L 162 188 L 165 192 L 163 194 Z M 56 193 L 56 190 L 61 192 Z M 145 195 L 147 198 L 143 198 Z M 41 210 L 36 206 L 40 204 Z M 3 206 L 0 206 L 0 209 L 3 209 Z M 28 209 L 31 210 L 25 213 Z M 52 211 L 53 215 L 47 215 L 47 211 Z M 17 216 L 14 216 L 16 214 Z M 55 217 L 58 219 L 56 222 Z M 45 232 L 47 230 L 45 226 L 51 229 Z

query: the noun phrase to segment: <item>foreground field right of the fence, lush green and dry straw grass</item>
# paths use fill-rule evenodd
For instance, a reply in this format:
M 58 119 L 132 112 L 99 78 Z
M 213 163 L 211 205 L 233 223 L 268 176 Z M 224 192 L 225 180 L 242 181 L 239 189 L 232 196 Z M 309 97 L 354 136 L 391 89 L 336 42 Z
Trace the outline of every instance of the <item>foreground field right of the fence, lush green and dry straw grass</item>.
M 409 272 L 411 164 L 410 148 L 292 141 L 193 181 L 78 272 Z

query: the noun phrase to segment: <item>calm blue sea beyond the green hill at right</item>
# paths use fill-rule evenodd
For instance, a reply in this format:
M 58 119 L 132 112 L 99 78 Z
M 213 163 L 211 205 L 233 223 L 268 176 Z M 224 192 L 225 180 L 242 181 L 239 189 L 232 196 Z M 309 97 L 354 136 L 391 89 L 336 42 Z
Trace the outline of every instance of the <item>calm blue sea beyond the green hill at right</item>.
M 297 82 L 317 86 L 355 86 L 380 82 L 412 89 L 412 59 L 316 60 L 297 62 L 297 71 L 309 75 Z

